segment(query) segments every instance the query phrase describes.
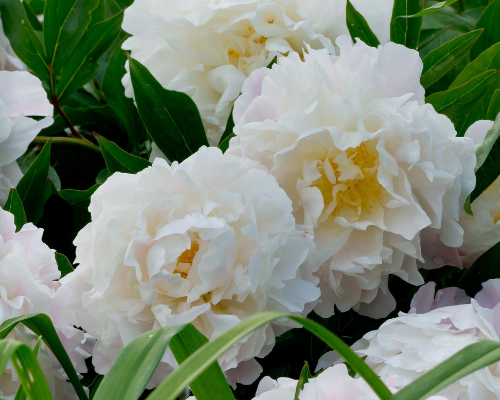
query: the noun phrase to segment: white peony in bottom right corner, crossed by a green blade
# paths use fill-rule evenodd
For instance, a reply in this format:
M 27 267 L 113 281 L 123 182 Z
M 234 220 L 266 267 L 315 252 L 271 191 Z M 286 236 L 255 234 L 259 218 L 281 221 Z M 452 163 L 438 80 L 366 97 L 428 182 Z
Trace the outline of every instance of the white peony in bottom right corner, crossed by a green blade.
M 419 297 L 421 301 L 422 294 Z M 453 303 L 451 297 L 445 302 Z M 499 340 L 500 279 L 485 282 L 483 290 L 469 303 L 463 304 L 465 300 L 460 296 L 455 297 L 455 302 L 459 304 L 433 308 L 423 314 L 400 313 L 377 331 L 368 332 L 352 349 L 360 357 L 366 356 L 365 362 L 382 380 L 397 375 L 395 387 L 399 388 L 469 344 Z M 320 364 L 324 366 L 331 360 L 330 353 Z M 439 394 L 450 400 L 498 399 L 500 363 L 460 378 Z

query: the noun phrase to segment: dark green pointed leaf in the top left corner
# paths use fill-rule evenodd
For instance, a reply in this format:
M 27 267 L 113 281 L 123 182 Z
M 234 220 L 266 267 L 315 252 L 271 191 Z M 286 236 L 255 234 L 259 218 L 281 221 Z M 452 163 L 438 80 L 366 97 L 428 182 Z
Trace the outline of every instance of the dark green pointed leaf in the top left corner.
M 49 82 L 50 76 L 43 44 L 29 23 L 19 0 L 0 0 L 0 17 L 12 49 L 35 74 Z

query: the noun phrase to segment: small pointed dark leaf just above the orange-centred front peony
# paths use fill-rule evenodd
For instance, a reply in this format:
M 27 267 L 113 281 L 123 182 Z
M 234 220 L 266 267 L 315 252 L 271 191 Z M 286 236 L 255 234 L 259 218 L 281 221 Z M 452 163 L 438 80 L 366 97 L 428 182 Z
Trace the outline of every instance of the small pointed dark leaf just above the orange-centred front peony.
M 121 150 L 114 142 L 94 135 L 101 147 L 102 156 L 110 174 L 125 172 L 135 174 L 151 166 L 151 162 Z

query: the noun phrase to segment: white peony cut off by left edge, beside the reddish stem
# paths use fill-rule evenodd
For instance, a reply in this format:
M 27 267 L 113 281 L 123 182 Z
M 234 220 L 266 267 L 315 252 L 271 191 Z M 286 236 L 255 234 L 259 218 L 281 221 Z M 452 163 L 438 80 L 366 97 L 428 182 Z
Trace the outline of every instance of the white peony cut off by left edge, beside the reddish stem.
M 53 107 L 42 82 L 26 71 L 0 71 L 0 205 L 23 176 L 16 159 L 50 126 Z M 31 116 L 44 117 L 40 120 Z

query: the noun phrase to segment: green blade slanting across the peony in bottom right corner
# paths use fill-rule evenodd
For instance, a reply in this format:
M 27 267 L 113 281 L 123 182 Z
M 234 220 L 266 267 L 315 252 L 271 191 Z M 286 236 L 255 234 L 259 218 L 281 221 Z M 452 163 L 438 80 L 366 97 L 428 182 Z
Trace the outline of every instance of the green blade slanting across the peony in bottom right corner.
M 463 376 L 500 360 L 500 343 L 485 340 L 473 343 L 415 379 L 390 400 L 424 400 Z

